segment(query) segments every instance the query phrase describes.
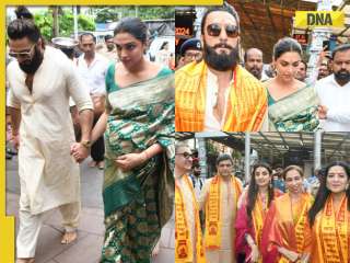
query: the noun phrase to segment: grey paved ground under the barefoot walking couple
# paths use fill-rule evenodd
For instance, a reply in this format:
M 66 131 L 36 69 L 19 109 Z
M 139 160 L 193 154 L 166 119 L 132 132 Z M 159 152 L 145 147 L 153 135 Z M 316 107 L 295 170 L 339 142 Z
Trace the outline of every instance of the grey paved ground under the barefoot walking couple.
M 103 243 L 103 171 L 89 168 L 89 160 L 81 164 L 82 213 L 79 238 L 72 244 L 60 244 L 62 235 L 61 216 L 58 210 L 45 215 L 38 245 L 36 263 L 96 263 Z M 18 216 L 20 184 L 18 160 L 7 161 L 7 214 Z M 16 221 L 18 225 L 18 221 Z M 174 262 L 174 221 L 162 230 L 161 250 L 153 263 Z

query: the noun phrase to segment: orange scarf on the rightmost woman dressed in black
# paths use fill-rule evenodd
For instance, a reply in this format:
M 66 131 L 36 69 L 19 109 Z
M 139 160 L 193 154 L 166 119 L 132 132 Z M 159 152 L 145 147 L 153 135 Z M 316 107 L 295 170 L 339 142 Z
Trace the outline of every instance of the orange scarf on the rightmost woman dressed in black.
M 349 217 L 348 198 L 341 199 L 338 213 L 335 210 L 332 197 L 329 195 L 322 216 L 315 220 L 317 232 L 318 262 L 348 263 L 349 262 Z

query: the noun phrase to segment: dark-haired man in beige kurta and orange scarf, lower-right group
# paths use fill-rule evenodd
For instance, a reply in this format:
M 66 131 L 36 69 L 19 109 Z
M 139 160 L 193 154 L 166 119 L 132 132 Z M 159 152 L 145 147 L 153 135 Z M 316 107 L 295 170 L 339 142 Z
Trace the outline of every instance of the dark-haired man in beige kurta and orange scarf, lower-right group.
M 235 263 L 234 253 L 234 240 L 235 228 L 234 222 L 237 211 L 237 201 L 242 193 L 241 182 L 232 174 L 233 161 L 229 155 L 222 155 L 218 157 L 217 170 L 218 174 L 205 182 L 199 197 L 199 207 L 206 210 L 206 206 L 212 199 L 212 193 L 210 192 L 210 185 L 214 180 L 219 180 L 219 193 L 220 193 L 220 215 L 219 224 L 221 224 L 221 239 L 217 245 L 219 249 L 211 249 L 208 245 L 208 229 L 205 230 L 205 247 L 207 261 L 210 263 Z M 210 208 L 210 206 L 209 206 Z M 208 220 L 208 210 L 206 210 L 206 222 Z M 206 224 L 207 225 L 207 224 Z M 207 226 L 206 226 L 207 227 Z

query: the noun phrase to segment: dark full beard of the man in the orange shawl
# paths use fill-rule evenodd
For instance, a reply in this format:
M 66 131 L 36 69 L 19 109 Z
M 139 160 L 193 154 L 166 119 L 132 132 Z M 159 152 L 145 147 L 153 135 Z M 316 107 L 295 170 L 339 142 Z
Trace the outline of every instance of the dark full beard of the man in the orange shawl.
M 231 52 L 220 53 L 218 54 L 215 49 L 218 47 L 228 48 Z M 226 71 L 230 69 L 234 69 L 238 61 L 238 48 L 232 47 L 226 44 L 217 44 L 214 46 L 209 46 L 205 42 L 203 44 L 203 59 L 211 68 L 219 70 L 219 71 Z

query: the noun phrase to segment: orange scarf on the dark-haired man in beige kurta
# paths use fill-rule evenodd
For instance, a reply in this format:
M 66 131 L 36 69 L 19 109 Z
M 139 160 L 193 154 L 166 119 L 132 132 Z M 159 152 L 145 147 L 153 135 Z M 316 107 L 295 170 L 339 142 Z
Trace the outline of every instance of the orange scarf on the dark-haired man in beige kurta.
M 215 175 L 209 186 L 209 196 L 206 202 L 206 236 L 205 243 L 209 250 L 219 249 L 221 245 L 221 196 L 220 196 L 220 181 L 221 178 Z M 232 188 L 234 190 L 234 207 L 236 210 L 236 203 L 242 193 L 242 186 L 237 180 L 231 176 Z

